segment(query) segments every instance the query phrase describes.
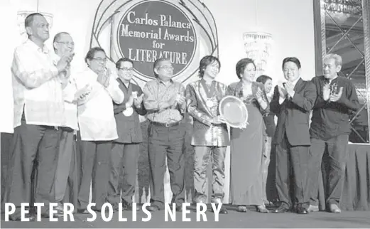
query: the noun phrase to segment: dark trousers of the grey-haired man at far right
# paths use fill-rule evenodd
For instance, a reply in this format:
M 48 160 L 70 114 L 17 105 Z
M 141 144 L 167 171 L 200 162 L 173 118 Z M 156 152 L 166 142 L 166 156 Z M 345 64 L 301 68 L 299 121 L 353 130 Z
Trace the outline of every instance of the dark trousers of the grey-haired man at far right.
M 327 174 L 322 180 L 326 183 L 326 203 L 338 204 L 343 191 L 344 171 L 347 160 L 348 135 L 343 134 L 331 139 L 311 139 L 310 147 L 310 202 L 317 205 L 318 176 L 322 166 L 322 156 L 327 153 L 324 160 L 324 171 Z

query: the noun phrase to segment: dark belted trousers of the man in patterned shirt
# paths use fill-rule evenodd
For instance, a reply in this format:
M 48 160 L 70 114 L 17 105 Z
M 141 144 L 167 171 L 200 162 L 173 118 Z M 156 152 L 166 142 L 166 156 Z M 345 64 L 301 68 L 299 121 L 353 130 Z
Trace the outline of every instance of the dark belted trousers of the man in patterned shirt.
M 185 202 L 185 161 L 183 154 L 185 127 L 161 127 L 149 124 L 148 157 L 151 166 L 151 205 L 164 208 L 165 159 L 170 173 L 173 203 Z

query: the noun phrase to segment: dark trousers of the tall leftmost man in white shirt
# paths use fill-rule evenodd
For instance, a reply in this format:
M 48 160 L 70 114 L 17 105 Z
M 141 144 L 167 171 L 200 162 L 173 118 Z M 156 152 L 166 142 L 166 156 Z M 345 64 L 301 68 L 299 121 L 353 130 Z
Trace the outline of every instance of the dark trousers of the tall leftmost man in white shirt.
M 17 212 L 21 203 L 44 203 L 42 213 L 48 213 L 49 203 L 55 203 L 55 171 L 58 165 L 60 129 L 26 124 L 14 129 L 6 179 L 6 201 Z

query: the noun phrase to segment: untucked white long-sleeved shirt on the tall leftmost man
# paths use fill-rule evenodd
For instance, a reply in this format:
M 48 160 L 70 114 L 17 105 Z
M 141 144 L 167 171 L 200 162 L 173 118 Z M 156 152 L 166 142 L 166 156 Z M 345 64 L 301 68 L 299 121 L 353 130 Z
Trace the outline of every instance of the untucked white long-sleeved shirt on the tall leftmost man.
M 27 40 L 14 51 L 11 65 L 13 78 L 14 128 L 21 125 L 21 117 L 27 124 L 62 126 L 64 104 L 58 69 L 53 53 Z

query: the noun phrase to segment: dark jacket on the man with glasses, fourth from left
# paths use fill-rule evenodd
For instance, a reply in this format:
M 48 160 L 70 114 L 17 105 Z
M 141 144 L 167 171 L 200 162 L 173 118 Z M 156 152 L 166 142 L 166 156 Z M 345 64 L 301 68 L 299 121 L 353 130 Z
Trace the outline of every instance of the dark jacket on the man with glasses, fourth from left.
M 131 116 L 126 117 L 122 113 L 126 110 L 126 102 L 129 100 L 129 88 L 124 85 L 124 83 L 117 78 L 119 82 L 119 88 L 124 92 L 124 102 L 121 104 L 114 103 L 114 117 L 116 118 L 118 139 L 114 140 L 116 143 L 140 143 L 143 142 L 143 134 L 141 133 L 140 120 L 138 115 L 146 115 L 146 109 L 141 103 L 141 108 L 137 109 L 135 105 L 132 105 L 134 112 Z M 131 90 L 138 93 L 138 97 L 143 94 L 141 88 L 130 82 Z M 129 87 L 130 87 L 129 85 Z

